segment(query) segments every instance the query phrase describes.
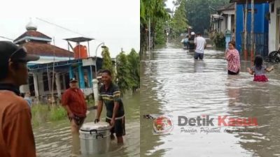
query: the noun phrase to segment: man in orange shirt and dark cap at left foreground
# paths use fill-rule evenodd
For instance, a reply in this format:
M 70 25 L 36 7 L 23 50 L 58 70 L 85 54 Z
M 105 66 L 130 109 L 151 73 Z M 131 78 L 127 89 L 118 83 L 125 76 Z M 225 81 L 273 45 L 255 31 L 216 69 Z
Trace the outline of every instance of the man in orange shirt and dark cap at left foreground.
M 27 62 L 39 57 L 9 41 L 0 41 L 0 54 L 0 156 L 35 157 L 31 111 L 20 86 L 28 83 Z

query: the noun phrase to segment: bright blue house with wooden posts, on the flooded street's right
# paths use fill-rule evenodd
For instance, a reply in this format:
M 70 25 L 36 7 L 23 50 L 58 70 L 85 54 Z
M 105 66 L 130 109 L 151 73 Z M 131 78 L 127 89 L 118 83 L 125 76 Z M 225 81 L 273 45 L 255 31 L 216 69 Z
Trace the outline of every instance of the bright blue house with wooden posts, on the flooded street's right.
M 267 57 L 268 55 L 268 30 L 269 21 L 267 15 L 269 13 L 269 3 L 271 0 L 255 0 L 254 1 L 254 22 L 253 22 L 253 40 L 251 40 L 251 26 L 252 26 L 252 5 L 251 0 L 230 0 L 230 3 L 237 3 L 236 7 L 236 48 L 239 52 L 243 53 L 244 56 L 251 52 L 251 59 L 256 54 Z M 247 6 L 247 8 L 246 8 Z M 246 16 L 247 13 L 247 16 Z M 246 19 L 246 20 L 245 20 Z M 246 24 L 246 30 L 245 30 Z M 245 40 L 246 38 L 246 40 Z M 253 42 L 253 45 L 252 45 Z

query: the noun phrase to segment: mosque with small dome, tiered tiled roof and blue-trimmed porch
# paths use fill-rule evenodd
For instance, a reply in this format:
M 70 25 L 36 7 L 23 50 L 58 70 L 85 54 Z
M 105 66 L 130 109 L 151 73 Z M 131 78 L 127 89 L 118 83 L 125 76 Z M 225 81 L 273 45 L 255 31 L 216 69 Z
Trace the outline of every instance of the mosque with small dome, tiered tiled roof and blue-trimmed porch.
M 20 87 L 22 93 L 30 92 L 31 96 L 39 100 L 50 98 L 52 94 L 60 98 L 64 90 L 69 88 L 69 79 L 72 77 L 78 80 L 80 89 L 83 89 L 86 95 L 93 93 L 92 78 L 95 76 L 95 63 L 99 70 L 102 67 L 102 58 L 88 57 L 86 52 L 85 57 L 75 58 L 74 54 L 77 52 L 51 45 L 52 38 L 37 31 L 36 25 L 32 22 L 27 24 L 26 29 L 27 31 L 13 42 L 25 46 L 29 54 L 36 54 L 40 59 L 28 63 L 29 84 Z M 69 38 L 67 41 L 69 40 L 92 39 L 80 37 Z M 85 49 L 85 46 L 77 46 L 75 50 L 80 51 L 79 47 Z

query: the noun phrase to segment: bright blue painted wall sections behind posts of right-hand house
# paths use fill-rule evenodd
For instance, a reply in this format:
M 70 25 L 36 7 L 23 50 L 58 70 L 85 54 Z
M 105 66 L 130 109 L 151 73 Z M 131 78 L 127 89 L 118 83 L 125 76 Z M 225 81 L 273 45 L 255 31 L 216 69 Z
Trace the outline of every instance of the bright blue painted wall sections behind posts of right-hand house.
M 244 8 L 245 4 L 237 5 L 237 24 L 236 24 L 236 48 L 241 52 L 241 33 L 244 29 Z M 251 9 L 251 3 L 248 4 L 248 9 Z M 269 13 L 269 3 L 255 4 L 255 22 L 254 22 L 254 32 L 255 33 L 268 33 L 268 20 L 266 20 L 265 15 Z M 247 17 L 247 31 L 251 32 L 251 11 L 248 12 Z

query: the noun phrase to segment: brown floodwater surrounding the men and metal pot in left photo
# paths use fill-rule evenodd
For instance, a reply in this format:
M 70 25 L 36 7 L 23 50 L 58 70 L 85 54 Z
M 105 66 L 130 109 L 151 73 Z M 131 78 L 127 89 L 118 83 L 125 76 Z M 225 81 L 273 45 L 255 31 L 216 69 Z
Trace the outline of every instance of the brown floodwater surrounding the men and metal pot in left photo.
M 140 156 L 139 98 L 139 92 L 133 95 L 127 94 L 123 98 L 126 122 L 125 144 L 118 146 L 115 140 L 111 142 L 109 153 L 98 155 L 98 157 Z M 105 121 L 106 108 L 103 108 L 102 120 Z M 92 122 L 94 117 L 95 111 L 90 111 L 90 114 L 87 114 L 85 123 Z M 34 137 L 38 157 L 69 157 L 71 155 L 71 132 L 68 119 L 34 128 Z

